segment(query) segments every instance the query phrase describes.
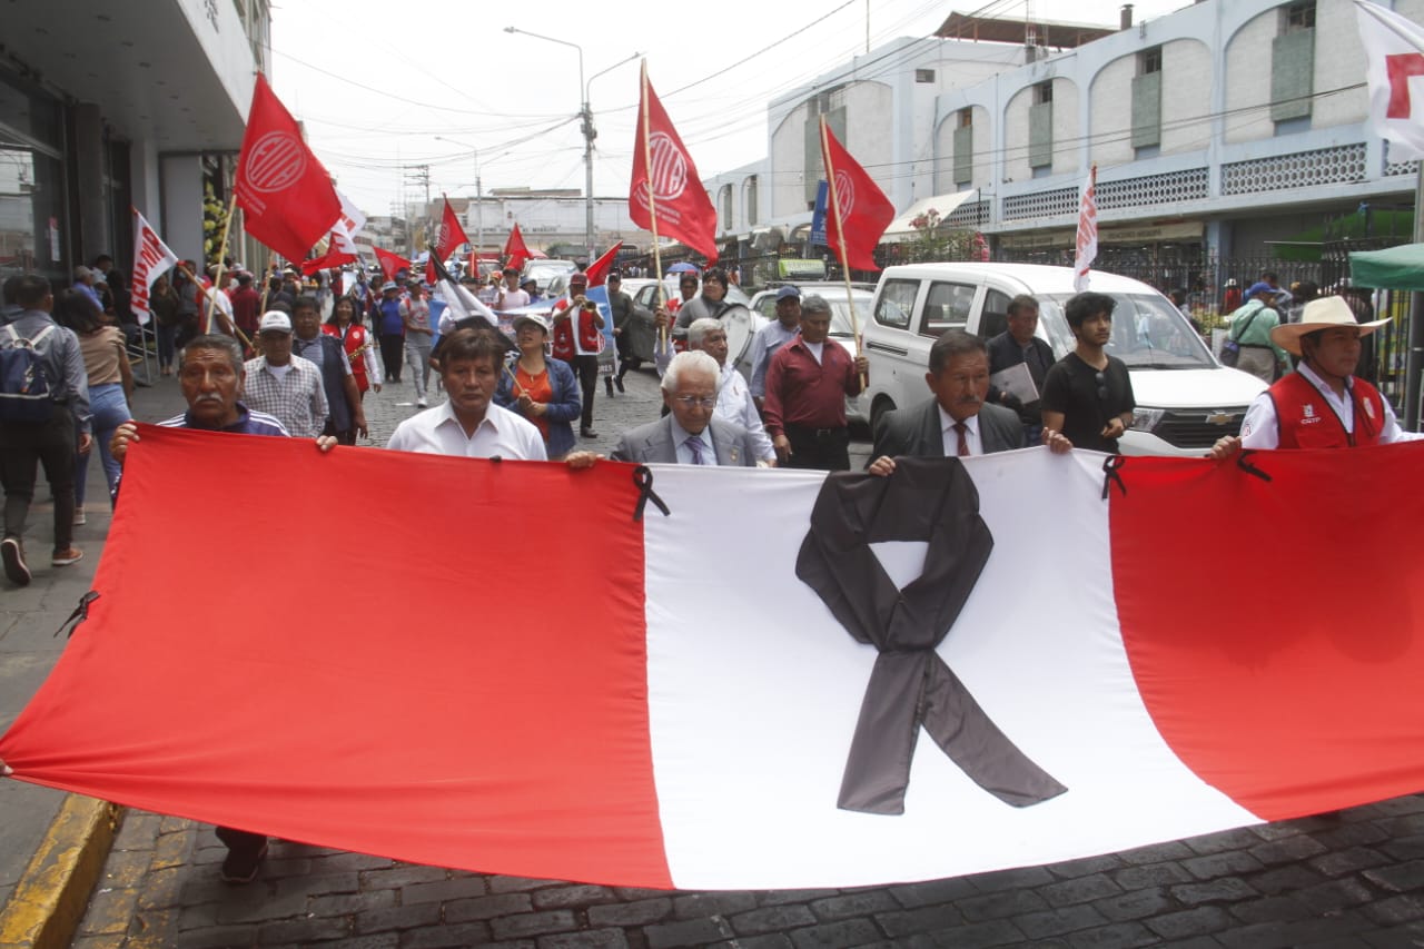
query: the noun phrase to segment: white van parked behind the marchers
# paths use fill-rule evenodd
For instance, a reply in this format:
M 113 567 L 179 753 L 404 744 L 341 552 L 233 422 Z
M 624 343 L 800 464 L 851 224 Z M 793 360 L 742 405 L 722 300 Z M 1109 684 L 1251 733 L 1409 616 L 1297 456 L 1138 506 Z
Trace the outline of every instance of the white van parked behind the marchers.
M 1124 455 L 1200 456 L 1240 430 L 1246 406 L 1266 385 L 1227 369 L 1172 301 L 1146 284 L 1094 272 L 1089 289 L 1118 301 L 1108 352 L 1128 365 L 1138 408 L 1122 436 Z M 876 286 L 864 328 L 870 359 L 870 419 L 930 398 L 924 373 L 930 346 L 946 329 L 981 339 L 1007 328 L 1008 301 L 1038 301 L 1038 335 L 1062 358 L 1074 348 L 1064 304 L 1074 295 L 1072 268 L 1037 264 L 909 264 L 890 266 Z

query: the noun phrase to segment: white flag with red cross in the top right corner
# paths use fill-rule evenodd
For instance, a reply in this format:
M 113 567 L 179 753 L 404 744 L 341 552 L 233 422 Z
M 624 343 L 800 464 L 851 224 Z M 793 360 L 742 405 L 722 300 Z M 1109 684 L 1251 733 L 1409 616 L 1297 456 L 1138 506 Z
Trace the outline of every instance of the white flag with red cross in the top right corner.
M 1424 158 L 1424 27 L 1368 0 L 1354 0 L 1370 87 L 1370 124 L 1390 161 Z

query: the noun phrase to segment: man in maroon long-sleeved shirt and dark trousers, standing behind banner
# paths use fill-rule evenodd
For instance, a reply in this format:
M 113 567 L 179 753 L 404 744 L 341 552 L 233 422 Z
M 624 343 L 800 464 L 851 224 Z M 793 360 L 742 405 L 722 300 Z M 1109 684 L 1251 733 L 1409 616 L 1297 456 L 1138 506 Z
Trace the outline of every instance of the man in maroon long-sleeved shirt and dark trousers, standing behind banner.
M 766 370 L 766 433 L 785 466 L 849 472 L 846 396 L 860 395 L 870 363 L 827 342 L 830 304 L 824 298 L 802 299 L 800 325 L 800 336 L 778 349 Z

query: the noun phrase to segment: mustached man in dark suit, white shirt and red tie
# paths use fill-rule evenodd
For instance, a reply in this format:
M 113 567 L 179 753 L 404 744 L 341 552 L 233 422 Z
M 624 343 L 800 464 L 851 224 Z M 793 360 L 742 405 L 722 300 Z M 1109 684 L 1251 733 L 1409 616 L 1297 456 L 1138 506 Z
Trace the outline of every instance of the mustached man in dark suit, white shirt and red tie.
M 1027 446 L 1018 415 L 985 402 L 988 352 L 978 336 L 950 329 L 934 341 L 924 380 L 933 398 L 887 412 L 876 423 L 871 474 L 893 473 L 897 455 L 964 457 Z M 1049 447 L 1067 452 L 1071 446 L 1058 436 Z

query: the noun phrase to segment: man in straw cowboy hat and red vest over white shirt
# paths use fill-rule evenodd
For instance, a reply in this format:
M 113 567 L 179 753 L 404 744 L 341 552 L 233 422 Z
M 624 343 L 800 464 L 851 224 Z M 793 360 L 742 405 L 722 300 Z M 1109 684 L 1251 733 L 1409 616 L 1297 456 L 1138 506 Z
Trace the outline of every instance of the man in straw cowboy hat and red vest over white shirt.
M 1256 396 L 1240 437 L 1219 439 L 1210 457 L 1243 447 L 1361 447 L 1424 437 L 1403 430 L 1380 390 L 1354 376 L 1360 338 L 1387 322 L 1357 323 L 1343 298 L 1321 296 L 1306 304 L 1299 323 L 1272 329 L 1270 341 L 1300 365 Z

